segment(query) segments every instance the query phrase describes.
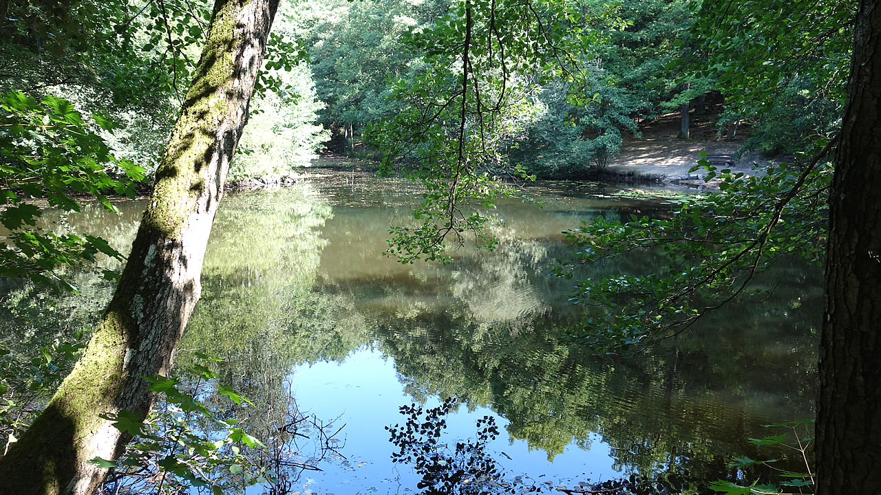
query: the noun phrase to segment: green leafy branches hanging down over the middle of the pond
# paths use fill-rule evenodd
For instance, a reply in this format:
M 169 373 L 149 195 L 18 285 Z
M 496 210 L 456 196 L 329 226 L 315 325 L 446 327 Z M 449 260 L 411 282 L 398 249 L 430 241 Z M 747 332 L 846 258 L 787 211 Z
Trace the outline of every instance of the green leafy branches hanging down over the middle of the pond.
M 581 15 L 566 2 L 467 0 L 406 34 L 424 66 L 391 81 L 391 97 L 403 107 L 368 134 L 384 152 L 383 172 L 400 165 L 426 194 L 417 225 L 392 229 L 390 255 L 448 262 L 444 239 L 462 244 L 469 232 L 478 245 L 493 246 L 488 218 L 470 205 L 492 208 L 497 198 L 514 196 L 501 177 L 534 179 L 522 166 L 509 166 L 500 151 L 536 114 L 527 98 L 537 81 L 565 78 L 567 100 L 590 100 L 578 54 L 598 34 L 578 24 Z

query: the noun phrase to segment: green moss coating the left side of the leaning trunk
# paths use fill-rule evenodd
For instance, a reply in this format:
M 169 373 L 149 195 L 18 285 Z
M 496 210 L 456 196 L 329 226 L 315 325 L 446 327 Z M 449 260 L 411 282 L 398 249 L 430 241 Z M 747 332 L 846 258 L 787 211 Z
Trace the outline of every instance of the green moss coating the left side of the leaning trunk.
M 144 265 L 151 265 L 149 248 L 161 248 L 161 238 L 180 239 L 189 216 L 196 212 L 196 200 L 204 195 L 208 175 L 205 159 L 218 144 L 218 122 L 228 118 L 235 63 L 233 55 L 245 40 L 236 37 L 241 13 L 236 4 L 226 4 L 212 20 L 211 33 L 196 76 L 175 125 L 166 156 L 157 170 L 157 183 L 144 222 L 133 247 L 130 265 L 107 314 L 77 366 L 58 388 L 56 395 L 8 455 L 0 457 L 0 492 L 52 493 L 66 488 L 77 476 L 78 462 L 85 462 L 86 442 L 105 420 L 106 410 L 115 410 L 130 377 L 124 373 L 127 351 L 137 341 L 138 304 L 135 287 L 141 286 Z M 136 255 L 137 254 L 137 255 Z M 137 257 L 144 265 L 137 262 Z M 137 266 L 140 265 L 140 266 Z M 142 301 L 143 302 L 143 301 Z M 135 314 L 132 314 L 132 313 Z M 27 473 L 27 476 L 22 476 Z

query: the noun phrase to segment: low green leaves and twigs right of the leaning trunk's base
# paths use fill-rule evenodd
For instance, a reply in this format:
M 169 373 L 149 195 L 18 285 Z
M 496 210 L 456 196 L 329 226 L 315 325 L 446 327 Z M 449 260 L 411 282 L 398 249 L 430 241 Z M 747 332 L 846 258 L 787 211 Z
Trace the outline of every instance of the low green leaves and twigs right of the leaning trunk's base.
M 255 403 L 218 383 L 218 374 L 211 368 L 222 359 L 203 352 L 196 352 L 195 358 L 186 372 L 188 381 L 195 379 L 189 385 L 161 376 L 148 379 L 150 390 L 161 394 L 163 401 L 145 420 L 125 410 L 106 417 L 114 421 L 116 429 L 135 439 L 116 461 L 93 459 L 113 468 L 101 493 L 149 490 L 220 495 L 245 492 L 255 485 L 271 493 L 288 492 L 299 472 L 315 469 L 313 464 L 300 461 L 295 436 L 306 437 L 307 426 L 314 426 L 322 436 L 326 447 L 310 462 L 333 451 L 332 436 L 326 436 L 322 425 L 301 414 L 295 405 L 278 418 L 280 423 L 265 443 L 248 434 L 228 407 L 212 400 L 211 392 L 226 397 L 240 413 Z

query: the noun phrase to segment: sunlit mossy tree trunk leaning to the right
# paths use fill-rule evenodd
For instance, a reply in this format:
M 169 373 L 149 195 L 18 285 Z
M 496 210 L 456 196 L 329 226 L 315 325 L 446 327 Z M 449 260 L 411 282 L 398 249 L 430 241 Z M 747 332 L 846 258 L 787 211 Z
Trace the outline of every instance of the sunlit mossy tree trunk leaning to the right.
M 199 276 L 224 181 L 248 115 L 278 0 L 217 0 L 129 262 L 83 357 L 48 407 L 0 458 L 0 492 L 85 494 L 130 440 L 102 413 L 144 416 L 143 377 L 167 374 L 199 299 Z

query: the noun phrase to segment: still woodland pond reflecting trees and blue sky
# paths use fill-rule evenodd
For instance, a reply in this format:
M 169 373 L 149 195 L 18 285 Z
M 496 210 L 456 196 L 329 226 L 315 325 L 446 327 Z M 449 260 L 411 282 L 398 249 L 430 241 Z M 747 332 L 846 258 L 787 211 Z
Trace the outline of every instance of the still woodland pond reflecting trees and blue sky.
M 292 478 L 294 493 L 418 492 L 412 465 L 392 462 L 401 446 L 386 427 L 405 423 L 401 406 L 449 397 L 439 445 L 473 442 L 478 420 L 492 417 L 499 434 L 486 456 L 511 484 L 550 491 L 661 472 L 706 491 L 735 472 L 732 457 L 783 455 L 748 439 L 767 434 L 760 425 L 813 417 L 819 270 L 793 262 L 768 282 L 773 298 L 734 303 L 635 356 L 597 357 L 560 339 L 582 317 L 566 298 L 572 281 L 548 274 L 569 255 L 561 232 L 597 216 L 669 214 L 687 193 L 552 182 L 524 194 L 543 207 L 501 203 L 498 247 L 466 245 L 446 266 L 382 255 L 389 224 L 406 222 L 418 197 L 403 181 L 328 173 L 227 195 L 178 366 L 192 350 L 224 358 L 223 379 L 255 400 L 246 424 L 292 396 L 325 430 L 342 426 L 327 444 L 336 453 Z M 143 204 L 119 206 L 118 218 L 88 208 L 48 226 L 126 249 Z M 633 269 L 609 262 L 589 276 Z M 76 281 L 82 296 L 51 304 L 7 295 L 4 344 L 54 336 L 38 320 L 87 323 L 112 287 L 87 274 Z M 307 444 L 304 461 L 318 448 Z

